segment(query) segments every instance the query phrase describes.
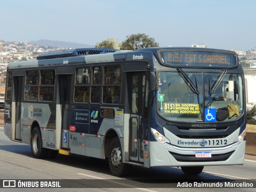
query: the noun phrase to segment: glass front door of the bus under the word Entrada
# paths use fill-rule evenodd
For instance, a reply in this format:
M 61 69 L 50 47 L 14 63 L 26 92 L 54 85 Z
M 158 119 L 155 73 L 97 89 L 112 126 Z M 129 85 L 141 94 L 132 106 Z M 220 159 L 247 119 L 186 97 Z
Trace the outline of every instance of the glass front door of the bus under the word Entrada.
M 148 154 L 148 99 L 145 94 L 148 83 L 145 72 L 131 73 L 130 78 L 129 158 L 132 162 L 148 167 L 148 160 L 144 158 L 144 155 Z

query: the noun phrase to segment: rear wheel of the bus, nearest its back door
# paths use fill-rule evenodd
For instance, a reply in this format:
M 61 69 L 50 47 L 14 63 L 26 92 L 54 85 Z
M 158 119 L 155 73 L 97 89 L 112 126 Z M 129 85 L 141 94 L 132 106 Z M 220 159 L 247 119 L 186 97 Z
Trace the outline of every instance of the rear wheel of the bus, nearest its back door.
M 38 127 L 35 127 L 32 130 L 31 134 L 31 151 L 34 156 L 34 158 L 46 158 L 48 154 L 48 149 L 43 148 L 42 145 L 42 137 L 41 137 L 41 132 Z

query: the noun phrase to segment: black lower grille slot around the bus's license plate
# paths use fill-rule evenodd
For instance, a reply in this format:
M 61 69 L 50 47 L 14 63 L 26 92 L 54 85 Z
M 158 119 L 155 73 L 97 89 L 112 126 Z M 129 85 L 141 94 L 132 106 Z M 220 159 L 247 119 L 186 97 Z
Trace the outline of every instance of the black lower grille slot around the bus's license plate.
M 172 156 L 179 162 L 210 162 L 227 160 L 233 154 L 233 152 L 234 150 L 222 154 L 212 154 L 211 158 L 196 158 L 195 155 L 178 154 L 175 152 L 170 152 L 170 154 L 172 154 Z

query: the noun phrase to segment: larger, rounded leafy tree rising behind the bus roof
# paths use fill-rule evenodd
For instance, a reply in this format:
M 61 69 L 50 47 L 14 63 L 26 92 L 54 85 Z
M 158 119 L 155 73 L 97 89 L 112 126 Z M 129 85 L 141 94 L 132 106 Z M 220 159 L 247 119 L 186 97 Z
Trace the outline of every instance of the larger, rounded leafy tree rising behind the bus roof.
M 155 42 L 154 38 L 150 38 L 146 34 L 132 34 L 126 36 L 126 40 L 120 45 L 122 50 L 136 50 L 140 48 L 152 48 L 159 47 L 159 44 Z

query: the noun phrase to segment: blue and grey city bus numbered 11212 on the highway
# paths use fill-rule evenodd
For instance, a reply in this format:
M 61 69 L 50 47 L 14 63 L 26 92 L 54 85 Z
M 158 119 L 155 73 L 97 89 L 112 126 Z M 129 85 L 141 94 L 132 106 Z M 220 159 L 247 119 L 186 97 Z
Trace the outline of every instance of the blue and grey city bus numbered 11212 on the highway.
M 243 164 L 246 88 L 233 51 L 68 49 L 7 68 L 4 132 L 35 158 L 108 158 L 130 167 Z

